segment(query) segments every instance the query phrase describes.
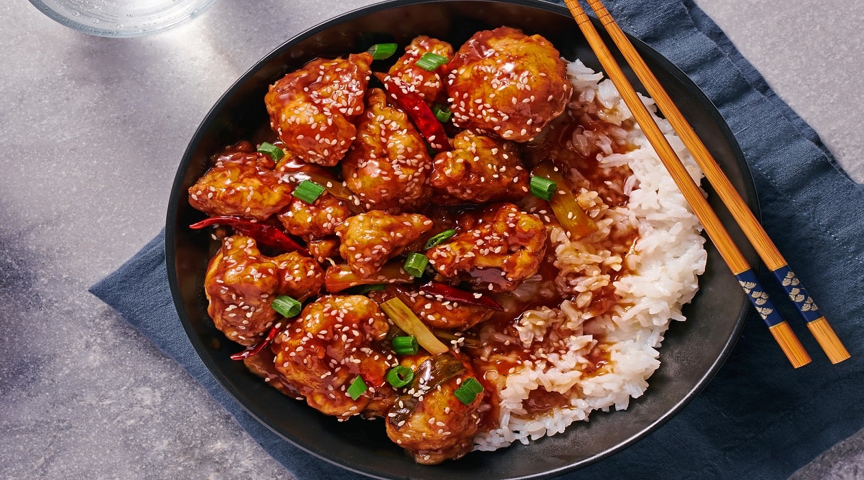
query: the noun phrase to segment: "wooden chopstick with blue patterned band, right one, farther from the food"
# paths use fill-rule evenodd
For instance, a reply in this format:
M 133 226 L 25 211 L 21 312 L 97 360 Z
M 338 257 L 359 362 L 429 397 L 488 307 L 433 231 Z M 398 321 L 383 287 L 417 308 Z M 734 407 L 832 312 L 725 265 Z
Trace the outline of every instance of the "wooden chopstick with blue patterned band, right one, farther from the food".
M 594 13 L 597 14 L 600 23 L 606 28 L 607 33 L 612 37 L 615 45 L 621 54 L 624 55 L 624 58 L 630 64 L 633 72 L 636 73 L 636 76 L 642 82 L 642 85 L 645 85 L 645 90 L 648 91 L 651 98 L 654 98 L 660 111 L 664 113 L 666 120 L 669 121 L 678 136 L 681 137 L 684 145 L 687 146 L 696 160 L 696 164 L 702 168 L 706 178 L 708 178 L 708 182 L 715 187 L 717 196 L 727 206 L 735 221 L 740 225 L 741 230 L 744 231 L 747 239 L 753 244 L 753 248 L 759 253 L 762 261 L 766 263 L 766 266 L 772 271 L 786 294 L 789 295 L 790 300 L 797 307 L 798 313 L 801 314 L 813 337 L 816 338 L 816 342 L 822 347 L 830 362 L 838 363 L 846 360 L 849 357 L 849 352 L 843 346 L 840 338 L 837 338 L 828 320 L 819 313 L 819 308 L 810 297 L 810 294 L 807 294 L 801 281 L 792 273 L 789 263 L 780 254 L 777 246 L 768 237 L 768 234 L 762 228 L 762 225 L 759 224 L 753 212 L 747 208 L 744 199 L 741 199 L 740 194 L 732 186 L 732 183 L 729 182 L 727 176 L 723 174 L 721 167 L 717 165 L 714 157 L 708 153 L 708 148 L 705 148 L 705 144 L 696 135 L 693 127 L 690 126 L 681 111 L 678 110 L 676 104 L 672 102 L 669 94 L 658 82 L 657 77 L 654 76 L 654 73 L 651 73 L 651 69 L 645 64 L 645 60 L 638 54 L 636 48 L 633 47 L 627 38 L 627 35 L 624 34 L 618 23 L 613 20 L 601 0 L 588 0 L 588 4 L 594 9 Z

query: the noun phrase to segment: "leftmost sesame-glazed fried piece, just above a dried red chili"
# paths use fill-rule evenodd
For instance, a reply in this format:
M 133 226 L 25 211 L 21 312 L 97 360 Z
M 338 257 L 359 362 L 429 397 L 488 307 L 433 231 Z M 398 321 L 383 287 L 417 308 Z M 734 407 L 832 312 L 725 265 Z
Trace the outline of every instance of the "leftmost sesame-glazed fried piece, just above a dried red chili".
M 213 167 L 189 187 L 189 205 L 213 217 L 264 221 L 289 204 L 291 186 L 276 172 L 270 155 L 239 142 L 219 154 Z

